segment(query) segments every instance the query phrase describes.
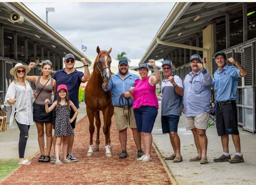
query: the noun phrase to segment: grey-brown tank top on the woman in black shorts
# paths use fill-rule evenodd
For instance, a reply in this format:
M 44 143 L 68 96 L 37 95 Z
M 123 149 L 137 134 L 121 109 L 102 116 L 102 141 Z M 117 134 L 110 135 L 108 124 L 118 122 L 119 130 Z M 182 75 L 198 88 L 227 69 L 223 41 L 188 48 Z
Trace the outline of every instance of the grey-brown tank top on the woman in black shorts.
M 35 85 L 35 90 L 37 93 L 39 93 L 44 85 L 40 83 L 41 77 L 38 78 L 38 81 Z M 50 79 L 51 83 L 49 85 L 46 85 L 40 95 L 38 95 L 37 99 L 35 100 L 36 104 L 45 104 L 44 101 L 46 99 L 49 99 L 50 103 L 52 104 L 52 90 L 53 90 L 53 78 Z

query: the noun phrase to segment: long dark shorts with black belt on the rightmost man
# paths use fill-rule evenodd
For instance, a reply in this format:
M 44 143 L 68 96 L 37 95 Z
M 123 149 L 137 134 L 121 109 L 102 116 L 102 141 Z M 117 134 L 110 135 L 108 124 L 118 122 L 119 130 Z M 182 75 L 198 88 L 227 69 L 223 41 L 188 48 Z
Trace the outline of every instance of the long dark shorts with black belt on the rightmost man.
M 236 101 L 222 106 L 217 105 L 215 117 L 218 136 L 239 135 Z

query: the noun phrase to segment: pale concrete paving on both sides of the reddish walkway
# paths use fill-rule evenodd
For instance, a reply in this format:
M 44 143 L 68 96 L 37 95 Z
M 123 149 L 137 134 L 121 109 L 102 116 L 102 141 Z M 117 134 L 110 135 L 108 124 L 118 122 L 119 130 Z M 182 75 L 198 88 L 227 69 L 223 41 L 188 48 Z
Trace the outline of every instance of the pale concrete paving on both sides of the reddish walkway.
M 161 102 L 159 101 L 159 104 Z M 256 183 L 256 135 L 239 128 L 241 137 L 241 150 L 244 155 L 243 163 L 230 164 L 229 162 L 213 162 L 213 159 L 221 156 L 222 146 L 220 137 L 217 136 L 215 125 L 207 129 L 208 148 L 207 157 L 209 163 L 200 165 L 199 162 L 189 162 L 189 158 L 197 155 L 194 139 L 191 131 L 186 131 L 184 125 L 184 116 L 180 117 L 178 134 L 181 142 L 181 155 L 183 162 L 173 163 L 172 160 L 165 161 L 163 158 L 172 154 L 172 146 L 170 144 L 169 135 L 162 134 L 161 111 L 157 116 L 157 120 L 153 129 L 154 144 L 159 150 L 160 158 L 169 171 L 171 180 L 174 184 L 180 185 L 209 185 L 209 184 L 249 184 Z M 79 115 L 77 121 L 86 116 L 86 106 L 84 102 L 80 104 Z M 8 125 L 9 126 L 9 125 Z M 0 159 L 18 158 L 18 138 L 19 130 L 10 129 L 6 132 L 0 132 Z M 86 149 L 87 150 L 87 149 Z M 29 140 L 26 147 L 25 157 L 29 158 L 38 153 L 37 130 L 35 125 L 30 127 Z M 230 137 L 230 153 L 231 157 L 235 155 L 235 149 Z

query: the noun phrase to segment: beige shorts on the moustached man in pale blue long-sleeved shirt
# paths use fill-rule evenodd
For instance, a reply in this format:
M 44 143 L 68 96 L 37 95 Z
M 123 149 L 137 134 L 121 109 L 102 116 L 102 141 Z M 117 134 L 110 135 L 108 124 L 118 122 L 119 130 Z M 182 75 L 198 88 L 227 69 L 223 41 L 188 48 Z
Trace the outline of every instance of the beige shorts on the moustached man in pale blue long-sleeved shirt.
M 204 112 L 196 116 L 185 116 L 186 130 L 198 128 L 206 130 L 209 122 L 209 113 Z

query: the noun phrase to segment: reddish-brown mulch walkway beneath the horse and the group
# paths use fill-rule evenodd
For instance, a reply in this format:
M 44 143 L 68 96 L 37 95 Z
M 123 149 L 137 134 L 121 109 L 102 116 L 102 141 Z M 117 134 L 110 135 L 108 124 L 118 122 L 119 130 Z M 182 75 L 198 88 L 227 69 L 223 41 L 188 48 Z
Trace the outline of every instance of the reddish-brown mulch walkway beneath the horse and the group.
M 103 123 L 103 118 L 101 115 Z M 131 129 L 128 129 L 126 159 L 119 159 L 120 144 L 114 116 L 111 125 L 111 147 L 113 157 L 105 157 L 105 136 L 100 133 L 99 152 L 87 157 L 89 146 L 89 121 L 87 116 L 76 123 L 73 154 L 79 159 L 73 164 L 56 166 L 51 163 L 37 162 L 40 153 L 32 158 L 31 165 L 20 166 L 1 184 L 172 184 L 157 152 L 152 147 L 151 162 L 137 161 L 137 148 L 133 141 Z M 93 135 L 95 142 L 96 132 Z M 62 149 L 61 149 L 62 150 Z M 53 148 L 51 157 L 53 156 Z M 61 152 L 62 159 L 62 152 Z

